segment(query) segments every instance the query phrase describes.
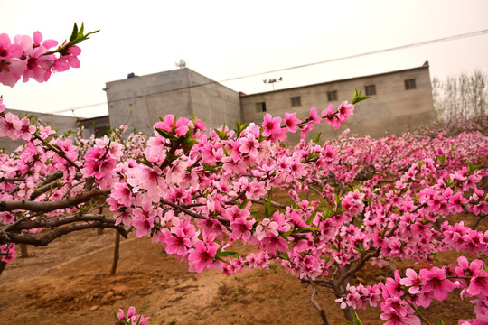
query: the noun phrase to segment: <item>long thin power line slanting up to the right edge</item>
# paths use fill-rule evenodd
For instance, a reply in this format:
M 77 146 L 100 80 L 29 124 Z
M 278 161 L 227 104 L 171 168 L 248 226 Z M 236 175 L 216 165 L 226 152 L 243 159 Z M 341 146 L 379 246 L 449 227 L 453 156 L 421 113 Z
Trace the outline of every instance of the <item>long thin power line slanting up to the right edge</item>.
M 352 55 L 349 55 L 349 56 L 344 56 L 344 57 L 335 58 L 335 59 L 329 59 L 329 60 L 321 60 L 321 61 L 318 61 L 318 62 L 301 64 L 301 65 L 297 65 L 297 66 L 294 66 L 294 67 L 282 68 L 282 69 L 277 69 L 277 70 L 269 70 L 269 71 L 266 71 L 266 72 L 252 73 L 252 74 L 249 74 L 249 75 L 244 75 L 244 76 L 239 76 L 239 77 L 233 77 L 233 78 L 229 78 L 229 79 L 221 79 L 219 81 L 213 81 L 212 80 L 210 82 L 204 82 L 202 84 L 197 84 L 197 85 L 192 85 L 192 86 L 185 86 L 185 87 L 182 87 L 182 88 L 167 89 L 167 90 L 155 92 L 155 93 L 149 94 L 149 95 L 136 96 L 136 97 L 134 97 L 134 99 L 136 99 L 136 98 L 145 98 L 145 97 L 148 97 L 148 96 L 160 95 L 160 94 L 165 94 L 165 93 L 169 93 L 169 92 L 174 92 L 174 91 L 189 89 L 189 88 L 196 88 L 196 87 L 208 86 L 208 85 L 212 85 L 212 84 L 216 84 L 216 83 L 222 83 L 222 82 L 233 81 L 233 80 L 238 80 L 238 79 L 246 79 L 246 78 L 251 78 L 251 77 L 257 77 L 257 76 L 261 76 L 261 75 L 268 74 L 268 73 L 276 73 L 276 72 L 282 72 L 282 71 L 286 71 L 286 70 L 301 69 L 301 68 L 305 68 L 305 67 L 311 67 L 311 66 L 314 66 L 314 65 L 336 62 L 336 61 L 339 61 L 339 60 L 350 60 L 350 59 L 361 58 L 361 57 L 364 57 L 364 56 L 369 56 L 369 55 L 374 55 L 374 54 L 380 54 L 380 53 L 389 52 L 389 51 L 405 50 L 405 49 L 409 49 L 409 48 L 413 48 L 413 47 L 418 47 L 418 46 L 424 46 L 424 45 L 433 44 L 433 43 L 437 43 L 437 42 L 448 42 L 448 41 L 461 40 L 461 39 L 465 39 L 465 38 L 468 38 L 468 37 L 474 37 L 474 36 L 483 35 L 485 33 L 488 33 L 488 29 L 485 29 L 485 30 L 482 30 L 482 31 L 476 31 L 476 32 L 466 32 L 466 33 L 457 34 L 457 35 L 448 36 L 448 37 L 443 37 L 443 38 L 439 38 L 439 39 L 435 39 L 435 40 L 430 40 L 430 41 L 415 42 L 415 43 L 411 43 L 411 44 L 407 44 L 407 45 L 401 45 L 401 46 L 392 47 L 392 48 L 389 48 L 389 49 L 383 49 L 383 50 L 377 50 L 377 51 L 369 51 L 369 52 L 364 52 L 364 53 L 360 53 L 360 54 L 352 54 Z M 126 99 L 120 99 L 120 100 L 116 100 L 114 102 L 121 101 L 121 100 L 126 100 Z M 49 112 L 49 113 L 46 113 L 46 114 L 56 114 L 56 113 L 74 111 L 74 110 L 78 110 L 78 109 L 82 109 L 82 108 L 97 107 L 97 106 L 106 105 L 106 104 L 108 104 L 108 103 L 107 102 L 103 102 L 103 103 L 98 103 L 98 104 L 91 104 L 91 105 L 87 105 L 87 106 L 82 106 L 82 107 L 72 107 L 72 108 L 67 108 L 67 109 L 52 111 L 52 112 Z

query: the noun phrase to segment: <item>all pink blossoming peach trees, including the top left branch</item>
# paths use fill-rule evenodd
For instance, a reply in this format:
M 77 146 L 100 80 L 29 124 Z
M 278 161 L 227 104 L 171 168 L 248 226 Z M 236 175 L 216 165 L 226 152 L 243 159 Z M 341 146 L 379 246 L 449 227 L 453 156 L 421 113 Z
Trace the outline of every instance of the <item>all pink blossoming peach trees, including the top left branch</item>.
M 52 51 L 57 43 L 42 42 L 39 32 L 14 42 L 0 34 L 0 82 L 42 82 L 53 70 L 78 67 L 76 44 L 88 35 L 75 25 L 70 41 Z M 361 99 L 356 93 L 352 103 Z M 146 143 L 140 135 L 123 140 L 123 128 L 83 139 L 5 113 L 2 100 L 0 135 L 25 141 L 0 155 L 4 262 L 14 258 L 16 244 L 43 246 L 72 231 L 115 228 L 125 237 L 152 237 L 191 272 L 234 274 L 278 261 L 312 287 L 324 324 L 315 300 L 320 287 L 333 292 L 349 321 L 359 322 L 353 309 L 369 305 L 381 308 L 386 324 L 427 322 L 419 307 L 457 290 L 474 304 L 474 319 L 460 323 L 488 322 L 488 273 L 480 259 L 460 256 L 456 265 L 408 268 L 375 285 L 350 283 L 371 263 L 430 261 L 450 250 L 488 254 L 488 232 L 475 229 L 488 213 L 481 185 L 488 138 L 481 133 L 306 143 L 315 124 L 338 128 L 352 116 L 354 106 L 343 102 L 321 112 L 313 107 L 302 120 L 267 114 L 262 124 L 238 123 L 235 130 L 167 115 Z M 288 132 L 301 132 L 302 141 L 284 146 Z M 289 194 L 288 203 L 275 202 L 272 190 Z M 95 212 L 99 199 L 112 217 Z M 264 215 L 251 209 L 255 202 L 265 204 Z M 476 225 L 449 224 L 454 212 L 474 214 Z M 236 241 L 250 249 L 234 251 Z M 117 320 L 146 321 L 133 309 Z

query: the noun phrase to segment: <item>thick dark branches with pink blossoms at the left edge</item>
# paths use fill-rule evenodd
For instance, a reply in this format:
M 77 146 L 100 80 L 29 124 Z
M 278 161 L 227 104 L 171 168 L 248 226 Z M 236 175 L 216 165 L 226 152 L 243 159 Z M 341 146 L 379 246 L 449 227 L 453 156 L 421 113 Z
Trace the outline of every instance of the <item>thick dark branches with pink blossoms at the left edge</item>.
M 36 130 L 35 132 L 38 131 Z M 93 176 L 86 177 L 81 172 L 76 172 L 72 168 L 72 164 L 68 163 L 68 160 L 72 159 L 77 162 L 76 165 L 81 165 L 78 161 L 81 153 L 77 153 L 78 147 L 73 145 L 71 139 L 50 140 L 47 136 L 44 136 L 45 139 L 41 142 L 37 140 L 38 136 L 40 135 L 33 136 L 25 144 L 28 150 L 25 152 L 24 148 L 22 151 L 23 155 L 20 157 L 15 155 L 11 157 L 5 156 L 5 158 L 13 159 L 12 162 L 15 162 L 14 164 L 18 164 L 20 161 L 34 163 L 24 166 L 25 172 L 23 172 L 21 187 L 23 184 L 30 184 L 29 190 L 19 190 L 18 186 L 14 190 L 9 190 L 13 188 L 14 184 L 6 184 L 4 186 L 4 190 L 9 193 L 8 198 L 13 199 L 14 195 L 20 200 L 4 199 L 0 201 L 0 210 L 4 211 L 4 213 L 0 213 L 0 217 L 5 223 L 5 227 L 0 229 L 4 235 L 1 236 L 0 241 L 2 243 L 16 242 L 44 246 L 57 237 L 86 228 L 115 228 L 124 237 L 127 237 L 127 230 L 122 228 L 122 226 L 116 225 L 115 218 L 109 218 L 106 215 L 97 215 L 95 217 L 87 215 L 87 209 L 92 205 L 92 200 L 97 198 L 104 200 L 103 198 L 107 196 L 109 190 L 90 190 L 83 185 L 86 180 Z M 93 147 L 93 144 L 90 144 L 88 140 L 80 137 L 76 140 L 79 143 Z M 95 144 L 108 145 L 107 152 L 113 156 L 121 157 L 123 155 L 120 150 L 123 147 L 121 144 L 109 144 L 108 140 L 92 139 L 92 141 Z M 127 142 L 130 141 L 132 140 L 129 136 Z M 48 146 L 45 144 L 56 145 L 57 150 L 52 151 L 52 145 Z M 138 145 L 138 142 L 134 144 Z M 130 150 L 127 150 L 127 158 L 130 154 Z M 33 157 L 37 158 L 33 159 Z M 108 154 L 104 154 L 102 157 L 105 161 L 112 159 Z M 43 162 L 46 160 L 51 160 L 52 164 L 45 165 Z M 7 161 L 4 160 L 4 162 L 6 163 Z M 99 163 L 102 162 L 100 161 Z M 8 165 L 9 163 L 6 164 Z M 59 172 L 60 169 L 62 172 Z M 35 180 L 37 180 L 37 183 Z M 63 211 L 74 210 L 79 210 L 81 213 L 76 213 L 71 218 L 56 217 L 62 214 Z M 40 228 L 51 230 L 42 236 L 31 233 L 31 230 Z M 37 230 L 34 232 L 37 232 Z

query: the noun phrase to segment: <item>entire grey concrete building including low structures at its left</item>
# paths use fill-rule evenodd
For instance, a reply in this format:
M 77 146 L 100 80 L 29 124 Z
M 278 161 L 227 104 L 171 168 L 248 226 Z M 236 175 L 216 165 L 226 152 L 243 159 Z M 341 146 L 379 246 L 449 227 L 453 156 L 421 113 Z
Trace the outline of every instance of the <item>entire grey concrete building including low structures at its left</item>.
M 337 107 L 343 100 L 351 101 L 354 89 L 362 89 L 370 99 L 361 101 L 347 123 L 334 131 L 331 125 L 315 125 L 314 133 L 322 132 L 331 139 L 346 128 L 352 134 L 380 137 L 402 134 L 425 125 L 435 112 L 428 62 L 421 67 L 391 71 L 371 76 L 342 79 L 296 88 L 278 89 L 246 95 L 227 88 L 188 68 L 159 72 L 108 82 L 108 116 L 77 120 L 70 116 L 54 116 L 32 112 L 24 115 L 39 116 L 42 123 L 64 132 L 85 126 L 85 135 L 104 135 L 107 125 L 127 124 L 146 135 L 153 135 L 153 125 L 160 116 L 174 114 L 204 119 L 208 127 L 242 122 L 261 123 L 263 116 L 284 116 L 296 112 L 298 118 L 308 116 L 310 107 L 319 111 L 329 104 Z M 289 135 L 288 142 L 296 144 L 299 135 Z M 0 138 L 0 147 L 11 152 L 20 142 Z

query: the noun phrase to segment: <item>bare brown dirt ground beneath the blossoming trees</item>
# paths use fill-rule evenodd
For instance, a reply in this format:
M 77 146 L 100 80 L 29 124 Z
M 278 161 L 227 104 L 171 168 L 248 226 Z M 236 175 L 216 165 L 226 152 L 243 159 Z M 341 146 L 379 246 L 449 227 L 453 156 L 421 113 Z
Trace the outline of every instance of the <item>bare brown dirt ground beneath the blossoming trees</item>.
M 470 225 L 474 218 L 468 218 Z M 483 220 L 480 230 L 488 228 Z M 173 255 L 149 238 L 121 239 L 116 275 L 112 264 L 114 232 L 83 231 L 61 237 L 50 246 L 29 246 L 29 258 L 17 258 L 0 275 L 2 324 L 114 324 L 114 311 L 136 306 L 149 324 L 321 324 L 309 302 L 311 288 L 281 265 L 226 276 L 215 271 L 188 273 Z M 20 256 L 20 251 L 17 252 Z M 455 262 L 455 252 L 439 263 Z M 484 257 L 482 255 L 473 258 Z M 411 263 L 397 265 L 399 269 Z M 372 284 L 390 276 L 388 267 L 369 266 L 357 274 Z M 352 279 L 352 283 L 357 281 Z M 344 324 L 332 294 L 317 297 L 331 324 Z M 423 310 L 432 323 L 442 318 L 457 324 L 473 317 L 473 307 L 452 292 L 446 302 Z M 362 323 L 382 324 L 378 309 L 358 311 Z

